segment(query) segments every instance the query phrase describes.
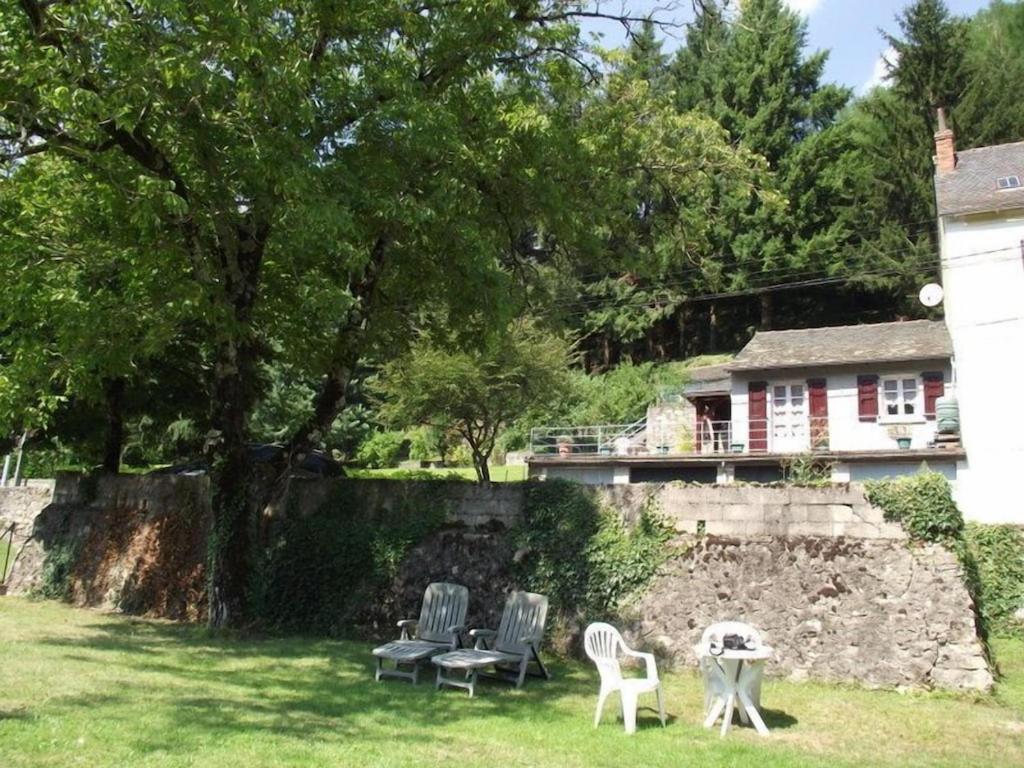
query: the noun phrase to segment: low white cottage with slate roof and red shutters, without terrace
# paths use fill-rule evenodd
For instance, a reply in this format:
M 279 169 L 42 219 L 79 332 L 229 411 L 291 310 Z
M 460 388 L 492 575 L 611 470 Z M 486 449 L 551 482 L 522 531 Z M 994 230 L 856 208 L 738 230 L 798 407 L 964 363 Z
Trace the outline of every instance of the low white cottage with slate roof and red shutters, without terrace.
M 941 322 L 760 332 L 728 366 L 731 442 L 838 457 L 931 450 L 951 355 Z M 858 464 L 852 479 L 900 474 L 898 464 Z

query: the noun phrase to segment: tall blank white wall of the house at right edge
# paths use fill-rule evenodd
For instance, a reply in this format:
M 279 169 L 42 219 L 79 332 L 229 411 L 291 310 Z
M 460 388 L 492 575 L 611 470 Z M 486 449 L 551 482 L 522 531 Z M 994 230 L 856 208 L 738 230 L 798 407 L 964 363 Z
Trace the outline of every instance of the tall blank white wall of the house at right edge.
M 1022 523 L 1024 210 L 944 216 L 939 234 L 968 456 L 957 474 L 957 501 L 970 518 Z

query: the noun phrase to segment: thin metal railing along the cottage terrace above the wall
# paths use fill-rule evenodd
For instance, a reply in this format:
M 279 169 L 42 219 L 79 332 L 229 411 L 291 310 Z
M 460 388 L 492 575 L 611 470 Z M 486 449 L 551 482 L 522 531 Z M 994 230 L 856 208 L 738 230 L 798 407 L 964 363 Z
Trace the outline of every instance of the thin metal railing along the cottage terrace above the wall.
M 535 456 L 725 456 L 799 454 L 828 451 L 828 419 L 813 417 L 792 428 L 772 428 L 767 419 L 698 421 L 677 435 L 675 444 L 652 442 L 646 421 L 584 427 L 536 427 L 530 430 Z

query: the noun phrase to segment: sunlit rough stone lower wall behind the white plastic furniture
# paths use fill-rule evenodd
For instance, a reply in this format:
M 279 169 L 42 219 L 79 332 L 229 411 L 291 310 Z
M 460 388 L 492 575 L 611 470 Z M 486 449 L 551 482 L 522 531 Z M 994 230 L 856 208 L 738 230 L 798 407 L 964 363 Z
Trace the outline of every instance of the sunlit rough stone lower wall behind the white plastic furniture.
M 971 597 L 938 545 L 834 538 L 698 540 L 632 607 L 634 635 L 695 665 L 703 628 L 737 620 L 774 648 L 770 674 L 988 690 Z

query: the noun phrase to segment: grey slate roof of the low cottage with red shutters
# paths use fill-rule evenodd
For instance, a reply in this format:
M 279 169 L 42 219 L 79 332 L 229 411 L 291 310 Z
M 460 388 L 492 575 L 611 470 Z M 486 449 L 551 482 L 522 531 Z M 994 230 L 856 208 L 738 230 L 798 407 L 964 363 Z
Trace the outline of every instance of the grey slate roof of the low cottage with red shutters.
M 759 331 L 728 369 L 732 372 L 762 371 L 935 360 L 951 356 L 952 343 L 944 323 L 906 321 L 796 331 Z

